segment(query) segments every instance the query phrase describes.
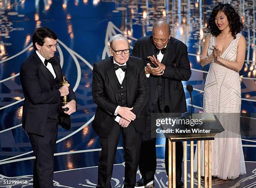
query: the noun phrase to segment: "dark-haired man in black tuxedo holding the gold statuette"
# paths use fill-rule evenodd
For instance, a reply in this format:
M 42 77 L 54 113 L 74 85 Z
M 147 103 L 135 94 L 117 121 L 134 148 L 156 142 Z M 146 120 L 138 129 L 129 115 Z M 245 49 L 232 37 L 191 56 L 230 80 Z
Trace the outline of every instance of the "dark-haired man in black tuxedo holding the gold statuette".
M 61 96 L 69 102 L 66 122 L 76 111 L 76 97 L 69 84 L 60 87 L 63 73 L 59 59 L 54 56 L 57 36 L 46 27 L 36 28 L 33 37 L 35 51 L 20 68 L 20 81 L 25 97 L 22 126 L 28 133 L 36 156 L 33 173 L 34 188 L 53 188 L 54 148 L 58 133 L 58 108 Z M 69 124 L 70 126 L 70 124 Z

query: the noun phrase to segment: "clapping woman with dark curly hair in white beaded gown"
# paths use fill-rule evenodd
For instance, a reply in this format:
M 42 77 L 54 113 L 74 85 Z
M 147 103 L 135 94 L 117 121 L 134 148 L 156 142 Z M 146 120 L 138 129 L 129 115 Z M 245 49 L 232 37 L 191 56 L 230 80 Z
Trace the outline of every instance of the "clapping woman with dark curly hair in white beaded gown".
M 241 84 L 246 40 L 240 16 L 230 4 L 218 4 L 210 15 L 210 30 L 201 54 L 201 65 L 210 63 L 205 81 L 204 113 L 216 113 L 225 131 L 212 140 L 212 175 L 235 179 L 246 173 L 240 135 Z M 204 142 L 201 144 L 201 175 L 204 176 Z M 197 149 L 194 160 L 197 171 Z

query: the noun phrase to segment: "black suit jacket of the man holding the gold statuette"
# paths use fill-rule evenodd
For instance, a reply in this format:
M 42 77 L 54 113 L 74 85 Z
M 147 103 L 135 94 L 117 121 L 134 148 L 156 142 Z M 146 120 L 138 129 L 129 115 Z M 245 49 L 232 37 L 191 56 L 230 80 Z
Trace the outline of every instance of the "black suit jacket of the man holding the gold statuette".
M 61 81 L 62 70 L 59 59 L 54 56 L 52 63 L 56 79 Z M 22 64 L 20 68 L 20 81 L 25 97 L 22 114 L 22 126 L 26 132 L 44 136 L 46 121 L 49 110 L 54 109 L 51 114 L 58 118 L 57 108 L 60 102 L 60 92 L 51 88 L 54 76 L 44 66 L 41 59 L 34 51 Z M 69 87 L 68 100 L 76 100 L 74 91 Z M 66 118 L 70 118 L 67 116 Z M 69 122 L 69 121 L 67 121 Z

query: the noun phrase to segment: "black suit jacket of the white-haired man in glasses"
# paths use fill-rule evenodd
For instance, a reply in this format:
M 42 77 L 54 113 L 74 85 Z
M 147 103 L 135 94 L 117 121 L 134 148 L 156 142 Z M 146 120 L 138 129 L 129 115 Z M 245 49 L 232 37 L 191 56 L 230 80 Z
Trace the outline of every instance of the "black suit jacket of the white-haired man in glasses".
M 113 64 L 111 56 L 94 64 L 92 71 L 92 97 L 97 104 L 92 127 L 103 138 L 108 137 L 113 124 L 117 123 L 114 113 L 118 107 L 118 86 Z M 136 119 L 131 124 L 138 132 L 145 128 L 146 112 L 142 109 L 147 99 L 148 86 L 143 62 L 141 58 L 130 57 L 127 61 L 127 107 L 133 107 Z

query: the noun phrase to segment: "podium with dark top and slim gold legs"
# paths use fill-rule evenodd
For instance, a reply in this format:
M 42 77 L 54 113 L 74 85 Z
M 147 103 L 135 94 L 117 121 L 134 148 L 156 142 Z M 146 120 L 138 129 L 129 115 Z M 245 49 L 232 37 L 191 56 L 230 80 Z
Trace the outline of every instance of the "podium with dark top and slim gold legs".
M 203 121 L 200 125 L 195 125 L 194 127 L 186 124 L 179 124 L 179 130 L 188 130 L 190 133 L 168 133 L 164 134 L 165 137 L 169 138 L 169 179 L 168 184 L 169 188 L 176 188 L 176 155 L 175 155 L 175 142 L 183 141 L 184 142 L 184 188 L 187 188 L 187 142 L 190 141 L 190 171 L 191 171 L 191 181 L 190 187 L 194 188 L 194 141 L 197 141 L 197 187 L 201 188 L 201 141 L 205 140 L 205 188 L 207 188 L 207 176 L 209 177 L 209 188 L 212 187 L 212 142 L 217 133 L 223 132 L 224 128 L 220 124 L 220 121 L 216 116 L 215 121 Z M 183 119 L 190 119 L 189 116 L 182 117 Z M 161 125 L 162 130 L 167 130 L 170 128 L 166 124 Z M 172 127 L 176 129 L 177 127 Z M 200 129 L 201 132 L 193 132 L 192 130 Z M 205 132 L 203 131 L 205 130 Z M 206 130 L 210 130 L 207 132 Z M 208 153 L 209 149 L 209 153 Z M 208 155 L 209 154 L 209 155 Z M 209 159 L 208 159 L 209 157 Z M 209 175 L 208 175 L 208 166 L 209 166 Z

